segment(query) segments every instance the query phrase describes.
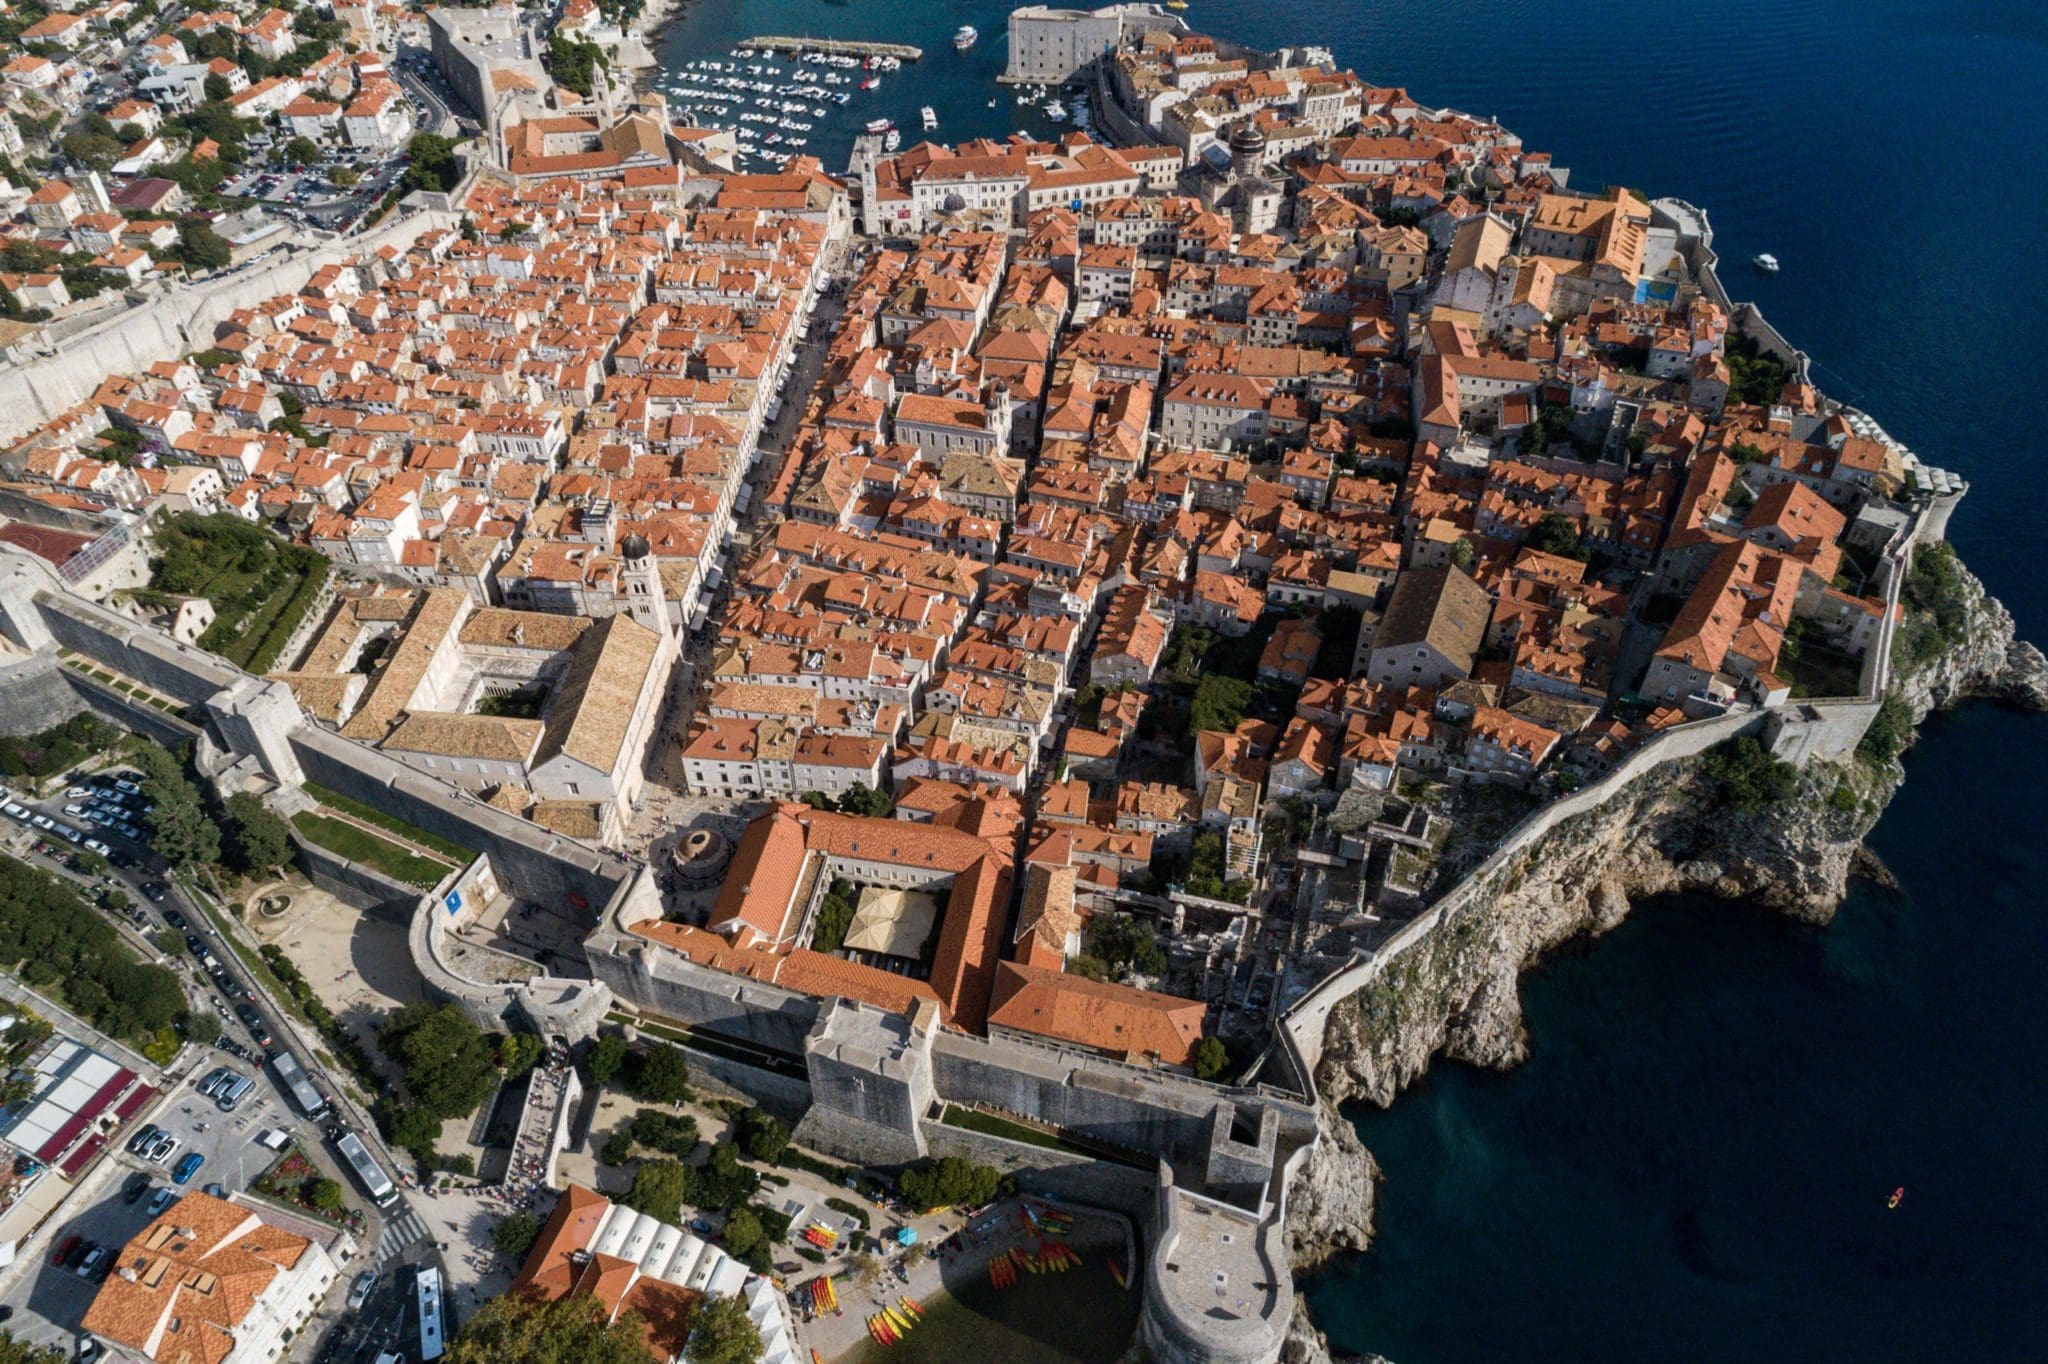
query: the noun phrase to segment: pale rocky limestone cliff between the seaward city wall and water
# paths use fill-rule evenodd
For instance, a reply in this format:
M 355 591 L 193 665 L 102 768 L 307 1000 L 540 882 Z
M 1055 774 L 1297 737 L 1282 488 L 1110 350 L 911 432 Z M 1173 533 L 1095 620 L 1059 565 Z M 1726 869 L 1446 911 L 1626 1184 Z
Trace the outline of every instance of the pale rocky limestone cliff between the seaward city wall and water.
M 2011 614 L 1946 547 L 1942 557 L 1950 576 L 1939 600 L 1913 606 L 1919 635 L 1901 649 L 1911 657 L 1894 678 L 1905 700 L 1898 723 L 1978 696 L 2048 709 L 2048 659 L 2013 637 Z M 1704 760 L 1659 768 L 1491 868 L 1491 885 L 1331 1012 L 1317 1073 L 1325 1141 L 1300 1194 L 1290 1190 L 1296 1268 L 1362 1249 L 1372 1235 L 1378 1167 L 1333 1106 L 1391 1104 L 1438 1053 L 1518 1063 L 1528 1053 L 1522 973 L 1569 938 L 1614 928 L 1642 897 L 1706 891 L 1827 922 L 1849 877 L 1868 868 L 1864 836 L 1905 776 L 1896 756 L 1810 764 L 1790 799 L 1743 813 L 1704 768 Z M 1303 1364 L 1329 1358 L 1307 1319 L 1290 1352 Z

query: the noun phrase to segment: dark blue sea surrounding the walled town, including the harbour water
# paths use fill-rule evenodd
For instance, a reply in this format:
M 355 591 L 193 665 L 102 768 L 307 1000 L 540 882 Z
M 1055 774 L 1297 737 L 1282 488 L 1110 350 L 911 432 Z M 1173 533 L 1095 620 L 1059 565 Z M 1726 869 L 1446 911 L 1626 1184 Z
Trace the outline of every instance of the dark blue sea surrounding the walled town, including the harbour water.
M 944 139 L 1051 131 L 989 84 L 1006 12 L 700 0 L 664 53 L 754 33 L 926 47 L 813 135 L 840 166 L 858 123 L 911 135 L 920 104 Z M 1194 0 L 1186 16 L 1325 43 L 1425 104 L 1495 115 L 1575 184 L 1690 199 L 1724 262 L 1774 252 L 1780 274 L 1731 264 L 1729 285 L 1823 387 L 1970 479 L 1952 539 L 2048 639 L 2048 8 Z M 965 55 L 963 23 L 983 33 Z M 1311 1286 L 1333 1344 L 1401 1364 L 2048 1358 L 2048 719 L 1935 719 L 1907 768 L 1872 838 L 1903 893 L 1858 891 L 1827 930 L 1645 905 L 1526 981 L 1522 1069 L 1440 1065 L 1356 1114 L 1386 1186 L 1374 1249 Z

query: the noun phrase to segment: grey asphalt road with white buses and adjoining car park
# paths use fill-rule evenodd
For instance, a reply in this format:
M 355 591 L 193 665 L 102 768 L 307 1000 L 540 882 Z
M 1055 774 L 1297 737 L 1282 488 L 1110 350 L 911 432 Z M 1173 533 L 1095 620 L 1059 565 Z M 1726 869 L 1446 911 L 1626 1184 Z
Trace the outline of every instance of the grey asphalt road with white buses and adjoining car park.
M 10 791 L 8 797 L 35 813 L 43 813 L 53 823 L 61 821 L 84 827 L 80 817 L 63 811 L 66 805 L 78 805 L 70 795 L 33 801 Z M 279 1051 L 289 1051 L 322 1094 L 340 1098 L 346 1106 L 346 1096 L 342 1096 L 336 1079 L 319 1063 L 319 1057 L 295 1036 L 293 1026 L 281 1024 L 287 1018 L 285 1008 L 268 997 L 262 979 L 236 958 L 233 948 L 221 936 L 223 924 L 215 918 L 215 911 L 203 905 L 186 885 L 170 875 L 170 868 L 147 848 L 145 840 L 127 840 L 111 829 L 98 829 L 96 836 L 104 838 L 125 866 L 113 862 L 102 875 L 92 877 L 80 875 L 66 864 L 74 850 L 63 840 L 20 819 L 4 819 L 4 825 L 10 852 L 45 870 L 53 870 L 88 897 L 100 885 L 125 891 L 135 901 L 131 913 L 96 911 L 109 913 L 111 922 L 121 926 L 131 942 L 145 942 L 166 932 L 190 934 L 180 950 L 168 954 L 166 965 L 178 973 L 193 1010 L 213 1014 L 221 1028 L 219 1038 L 213 1042 L 190 1042 L 180 1051 L 178 1059 L 166 1071 L 164 1098 L 158 1100 L 154 1110 L 137 1114 L 137 1128 L 141 1122 L 154 1122 L 178 1139 L 178 1149 L 166 1161 L 150 1163 L 125 1151 L 125 1141 L 135 1128 L 123 1131 L 119 1145 L 109 1147 L 109 1155 L 86 1174 L 80 1188 L 90 1192 L 82 1206 L 66 1208 L 61 1223 L 55 1223 L 47 1235 L 37 1235 L 23 1247 L 33 1255 L 33 1262 L 8 1284 L 6 1292 L 0 1292 L 0 1305 L 14 1309 L 10 1329 L 23 1339 L 72 1350 L 78 1339 L 78 1321 L 92 1301 L 96 1284 L 80 1280 L 68 1268 L 51 1266 L 51 1249 L 74 1231 L 102 1245 L 119 1247 L 150 1221 L 147 1196 L 131 1204 L 123 1200 L 123 1188 L 143 1176 L 154 1186 L 170 1186 L 168 1165 L 174 1165 L 178 1157 L 190 1151 L 197 1151 L 205 1163 L 186 1188 L 197 1190 L 217 1184 L 225 1192 L 246 1190 L 274 1159 L 270 1151 L 256 1143 L 256 1137 L 283 1128 L 322 1174 L 342 1182 L 348 1190 L 348 1204 L 365 1212 L 358 1251 L 342 1266 L 344 1274 L 330 1294 L 328 1305 L 301 1331 L 301 1354 L 309 1354 L 315 1341 L 319 1341 L 319 1348 L 326 1348 L 326 1339 L 322 1337 L 346 1339 L 354 1335 L 358 1327 L 367 1325 L 367 1317 L 344 1311 L 348 1280 L 365 1266 L 377 1268 L 389 1262 L 438 1264 L 440 1247 L 428 1239 L 426 1219 L 403 1196 L 383 1212 L 360 1196 L 360 1190 L 354 1188 L 348 1171 L 328 1145 L 330 1131 L 338 1131 L 334 1118 L 330 1116 L 322 1124 L 301 1114 L 264 1061 L 270 1055 L 279 1055 Z M 141 934 L 141 938 L 135 934 Z M 197 940 L 197 950 L 193 948 L 193 940 Z M 158 958 L 154 942 L 145 956 Z M 205 965 L 209 956 L 215 967 Z M 252 1024 L 236 1016 L 238 1004 L 250 1010 Z M 254 1090 L 231 1114 L 219 1112 L 211 1100 L 197 1094 L 199 1079 L 223 1065 L 254 1079 Z M 356 1122 L 362 1122 L 362 1116 L 356 1116 Z M 377 1141 L 375 1131 L 367 1131 L 365 1141 L 387 1174 L 395 1176 L 399 1167 L 391 1161 L 381 1141 Z M 106 1169 L 109 1165 L 113 1165 L 111 1171 Z M 334 1358 L 352 1356 L 340 1354 Z

